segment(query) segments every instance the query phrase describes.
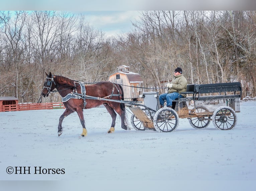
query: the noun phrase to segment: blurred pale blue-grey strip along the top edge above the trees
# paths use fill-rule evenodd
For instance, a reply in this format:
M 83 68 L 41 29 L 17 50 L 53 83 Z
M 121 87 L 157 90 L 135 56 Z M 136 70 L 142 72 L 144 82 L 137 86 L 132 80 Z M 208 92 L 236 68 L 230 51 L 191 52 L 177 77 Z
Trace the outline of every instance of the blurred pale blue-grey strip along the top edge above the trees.
M 12 0 L 1 10 L 255 10 L 254 0 Z

